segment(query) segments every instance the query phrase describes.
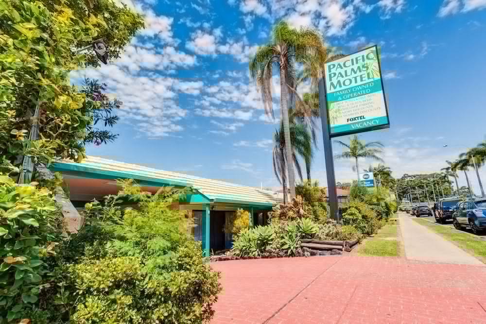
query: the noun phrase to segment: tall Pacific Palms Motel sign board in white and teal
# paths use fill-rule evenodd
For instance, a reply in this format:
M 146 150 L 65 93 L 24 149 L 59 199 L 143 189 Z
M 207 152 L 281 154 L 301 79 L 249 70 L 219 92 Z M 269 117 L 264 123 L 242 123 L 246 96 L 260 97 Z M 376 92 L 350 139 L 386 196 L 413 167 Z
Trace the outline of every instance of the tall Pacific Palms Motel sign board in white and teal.
M 330 137 L 390 127 L 378 47 L 326 64 Z

